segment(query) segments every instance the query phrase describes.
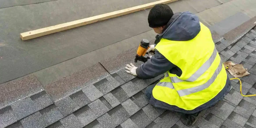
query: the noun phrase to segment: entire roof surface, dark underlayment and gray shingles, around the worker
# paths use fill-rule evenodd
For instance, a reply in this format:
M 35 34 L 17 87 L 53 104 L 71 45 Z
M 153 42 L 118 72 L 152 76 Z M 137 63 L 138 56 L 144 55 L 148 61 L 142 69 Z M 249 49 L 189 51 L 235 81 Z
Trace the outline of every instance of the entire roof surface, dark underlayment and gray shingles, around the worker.
M 20 30 L 34 29 L 33 25 L 41 28 L 66 22 L 65 19 L 76 19 L 62 15 L 53 22 L 42 20 L 46 16 L 44 13 L 48 14 L 47 11 L 55 16 L 49 16 L 49 19 L 61 15 L 51 10 L 53 7 L 64 10 L 69 7 L 64 6 L 64 0 L 46 1 L 42 0 L 45 3 L 40 4 L 27 1 L 26 6 L 18 6 L 22 3 L 14 0 L 0 4 L 0 17 L 4 21 L 4 25 L 0 24 L 0 30 L 6 31 L 0 35 L 0 56 L 3 56 L 0 60 L 0 83 L 11 80 L 0 84 L 0 128 L 187 128 L 180 121 L 180 113 L 148 104 L 146 87 L 158 82 L 163 75 L 142 80 L 124 71 L 124 66 L 134 61 L 135 46 L 142 38 L 154 42 L 155 33 L 145 25 L 148 11 L 20 42 L 17 39 L 19 37 L 16 38 Z M 75 6 L 84 4 L 84 1 L 79 0 L 65 2 Z M 88 4 L 93 5 L 90 2 Z M 118 5 L 116 2 L 109 4 Z M 103 4 L 102 10 L 87 15 L 102 13 L 105 5 L 99 4 Z M 133 4 L 131 2 L 129 6 Z M 230 60 L 249 69 L 250 75 L 241 78 L 242 92 L 248 95 L 256 94 L 256 28 L 253 28 L 256 8 L 251 8 L 255 4 L 255 0 L 180 0 L 168 4 L 175 12 L 189 10 L 196 13 L 200 21 L 209 26 L 223 62 Z M 49 10 L 39 13 L 44 8 Z M 34 10 L 33 15 L 25 17 L 25 12 L 30 10 Z M 67 10 L 62 13 L 78 16 L 84 14 L 85 10 Z M 113 10 L 110 8 L 110 11 Z M 14 17 L 20 19 L 8 22 Z M 33 20 L 27 21 L 25 18 Z M 132 19 L 135 19 L 137 26 L 131 25 Z M 17 28 L 21 24 L 23 27 Z M 117 43 L 110 44 L 112 42 Z M 94 50 L 96 48 L 99 49 Z M 94 51 L 84 54 L 87 49 Z M 9 63 L 10 60 L 5 60 L 9 56 L 8 59 L 14 65 Z M 38 59 L 34 59 L 35 56 Z M 72 57 L 75 58 L 70 59 Z M 61 59 L 70 60 L 62 62 Z M 135 63 L 136 66 L 141 64 Z M 37 72 L 31 73 L 34 71 Z M 15 79 L 17 77 L 20 78 Z M 230 74 L 229 77 L 232 78 Z M 232 80 L 231 83 L 232 89 L 225 99 L 208 109 L 191 128 L 256 128 L 256 97 L 242 97 L 238 81 Z

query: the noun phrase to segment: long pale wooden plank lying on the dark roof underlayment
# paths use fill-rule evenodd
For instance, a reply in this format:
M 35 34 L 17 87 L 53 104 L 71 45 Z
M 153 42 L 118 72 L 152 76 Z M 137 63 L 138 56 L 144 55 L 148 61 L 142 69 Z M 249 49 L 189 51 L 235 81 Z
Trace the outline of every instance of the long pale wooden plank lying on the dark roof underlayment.
M 79 27 L 79 26 L 87 25 L 87 24 L 92 24 L 92 23 L 102 21 L 102 20 L 105 20 L 105 19 L 110 19 L 110 18 L 126 15 L 126 14 L 129 14 L 129 13 L 137 12 L 137 11 L 144 10 L 144 9 L 147 9 L 147 8 L 152 8 L 156 4 L 160 4 L 160 3 L 166 4 L 166 3 L 171 3 L 171 2 L 174 2 L 174 1 L 178 1 L 178 0 L 160 0 L 160 1 L 155 1 L 155 2 L 152 2 L 152 3 L 146 3 L 146 4 L 143 4 L 143 5 L 139 5 L 139 6 L 135 6 L 135 7 L 131 7 L 131 8 L 126 8 L 126 9 L 123 9 L 123 10 L 118 10 L 118 11 L 114 11 L 114 12 L 109 12 L 109 13 L 93 16 L 93 17 L 79 19 L 79 20 L 76 20 L 76 21 L 71 21 L 71 22 L 67 22 L 67 23 L 63 23 L 63 24 L 58 24 L 58 25 L 55 25 L 55 26 L 50 26 L 50 27 L 46 27 L 46 28 L 40 28 L 40 29 L 37 29 L 37 30 L 28 31 L 28 32 L 25 32 L 25 33 L 21 33 L 20 37 L 21 37 L 22 40 L 33 39 L 33 38 L 48 35 L 48 34 L 51 34 L 51 33 L 56 33 L 56 32 L 60 32 L 60 31 L 63 31 L 63 30 L 76 28 L 76 27 Z

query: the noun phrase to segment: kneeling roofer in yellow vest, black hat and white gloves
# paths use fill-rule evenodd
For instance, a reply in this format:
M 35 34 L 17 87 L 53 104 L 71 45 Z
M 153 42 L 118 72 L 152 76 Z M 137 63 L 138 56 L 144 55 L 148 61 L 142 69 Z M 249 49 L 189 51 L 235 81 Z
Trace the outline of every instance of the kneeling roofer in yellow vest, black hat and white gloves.
M 196 15 L 173 14 L 164 4 L 150 10 L 148 24 L 159 34 L 147 51 L 155 50 L 155 55 L 138 68 L 127 64 L 126 72 L 142 79 L 165 73 L 159 83 L 146 88 L 146 97 L 155 107 L 184 113 L 181 121 L 193 125 L 231 86 L 211 32 Z

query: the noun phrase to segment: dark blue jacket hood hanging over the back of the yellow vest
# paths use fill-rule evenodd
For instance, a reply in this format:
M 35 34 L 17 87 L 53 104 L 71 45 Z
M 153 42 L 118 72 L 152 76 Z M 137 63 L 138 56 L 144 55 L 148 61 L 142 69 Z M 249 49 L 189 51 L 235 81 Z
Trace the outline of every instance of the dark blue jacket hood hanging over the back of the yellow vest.
M 174 20 L 171 18 L 171 24 L 164 30 L 159 38 L 173 41 L 188 41 L 194 39 L 200 32 L 200 22 L 196 15 L 191 12 L 179 13 Z

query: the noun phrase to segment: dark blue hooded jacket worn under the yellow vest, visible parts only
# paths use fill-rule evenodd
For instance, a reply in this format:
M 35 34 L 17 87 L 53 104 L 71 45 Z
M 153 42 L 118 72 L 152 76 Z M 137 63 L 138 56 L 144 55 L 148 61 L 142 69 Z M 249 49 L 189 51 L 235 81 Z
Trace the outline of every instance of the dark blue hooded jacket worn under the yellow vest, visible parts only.
M 156 37 L 157 39 L 155 44 L 157 44 L 161 38 L 174 41 L 188 41 L 196 37 L 199 32 L 200 22 L 196 15 L 190 12 L 175 13 L 165 27 L 163 33 Z M 142 79 L 150 79 L 167 71 L 170 71 L 170 73 L 176 74 L 177 76 L 181 76 L 182 74 L 182 71 L 179 67 L 172 64 L 157 50 L 155 51 L 155 55 L 151 57 L 150 60 L 136 69 L 137 76 Z M 224 96 L 229 92 L 230 87 L 231 83 L 227 77 L 226 85 L 222 91 L 219 92 L 219 94 L 216 95 L 212 100 L 206 102 L 194 110 L 188 111 L 177 106 L 169 105 L 162 101 L 156 100 L 153 96 L 151 96 L 150 104 L 154 105 L 155 107 L 169 109 L 181 113 L 196 113 L 207 109 L 216 104 L 219 100 L 222 100 Z

